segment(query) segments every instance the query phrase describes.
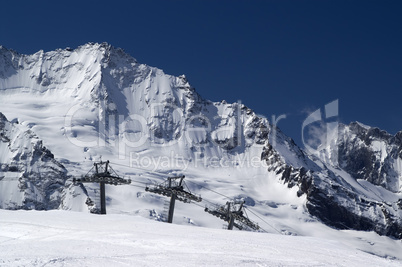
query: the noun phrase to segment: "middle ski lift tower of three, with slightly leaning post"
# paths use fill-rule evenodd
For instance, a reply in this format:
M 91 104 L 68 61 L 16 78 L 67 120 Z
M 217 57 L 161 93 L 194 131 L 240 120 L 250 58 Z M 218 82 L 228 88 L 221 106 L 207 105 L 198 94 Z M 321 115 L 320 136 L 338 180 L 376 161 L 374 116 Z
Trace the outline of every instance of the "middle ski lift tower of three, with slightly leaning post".
M 201 202 L 202 198 L 200 196 L 194 195 L 189 191 L 184 190 L 183 180 L 184 175 L 169 177 L 167 180 L 159 185 L 153 187 L 145 187 L 145 191 L 154 194 L 163 195 L 170 197 L 169 213 L 168 213 L 168 223 L 173 222 L 174 205 L 176 199 L 184 203 L 190 203 L 191 201 Z

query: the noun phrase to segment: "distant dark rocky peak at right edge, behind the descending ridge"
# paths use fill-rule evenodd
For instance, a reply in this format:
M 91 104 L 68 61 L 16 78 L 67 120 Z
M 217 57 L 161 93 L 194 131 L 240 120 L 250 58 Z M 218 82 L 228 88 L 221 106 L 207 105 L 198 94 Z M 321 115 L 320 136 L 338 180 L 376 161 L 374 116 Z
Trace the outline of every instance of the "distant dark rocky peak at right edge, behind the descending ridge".
M 402 132 L 395 136 L 359 123 L 340 125 L 339 167 L 354 179 L 402 190 Z

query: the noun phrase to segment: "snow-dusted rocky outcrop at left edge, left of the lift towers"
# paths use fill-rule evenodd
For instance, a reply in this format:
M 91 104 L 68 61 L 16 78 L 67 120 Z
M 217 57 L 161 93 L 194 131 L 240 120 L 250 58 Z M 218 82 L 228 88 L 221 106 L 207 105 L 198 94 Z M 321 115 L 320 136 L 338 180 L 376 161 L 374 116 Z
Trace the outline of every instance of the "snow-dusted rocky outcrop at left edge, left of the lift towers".
M 0 208 L 57 209 L 67 170 L 28 128 L 0 113 Z

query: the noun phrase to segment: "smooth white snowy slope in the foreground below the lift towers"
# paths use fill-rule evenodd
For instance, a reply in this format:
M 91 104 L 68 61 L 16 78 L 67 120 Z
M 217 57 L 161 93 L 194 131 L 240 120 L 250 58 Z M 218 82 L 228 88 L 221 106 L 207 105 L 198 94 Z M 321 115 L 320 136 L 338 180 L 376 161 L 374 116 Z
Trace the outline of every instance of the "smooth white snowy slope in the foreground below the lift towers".
M 0 210 L 6 266 L 400 266 L 336 240 L 225 231 L 137 216 Z

